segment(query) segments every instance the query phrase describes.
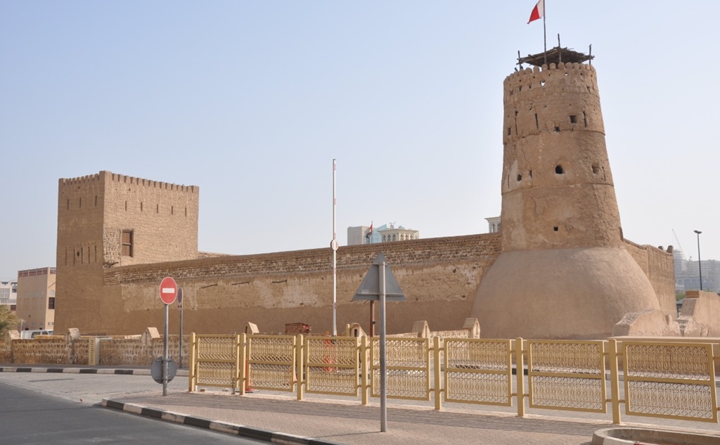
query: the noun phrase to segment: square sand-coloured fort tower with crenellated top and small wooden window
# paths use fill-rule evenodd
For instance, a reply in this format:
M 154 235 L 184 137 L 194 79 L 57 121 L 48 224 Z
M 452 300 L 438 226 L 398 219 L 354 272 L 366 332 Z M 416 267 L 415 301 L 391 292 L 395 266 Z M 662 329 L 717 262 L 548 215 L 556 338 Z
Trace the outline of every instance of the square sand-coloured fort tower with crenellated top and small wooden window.
M 199 187 L 100 171 L 58 184 L 58 332 L 99 310 L 103 269 L 197 258 Z

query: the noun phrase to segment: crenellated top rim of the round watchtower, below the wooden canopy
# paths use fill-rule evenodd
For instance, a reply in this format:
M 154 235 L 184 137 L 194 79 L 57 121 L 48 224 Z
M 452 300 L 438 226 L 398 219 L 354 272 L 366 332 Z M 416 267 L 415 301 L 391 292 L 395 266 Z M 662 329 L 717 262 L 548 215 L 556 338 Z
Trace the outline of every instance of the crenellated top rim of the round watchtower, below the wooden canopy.
M 505 78 L 505 100 L 514 94 L 536 89 L 567 89 L 569 84 L 583 86 L 585 93 L 598 94 L 595 68 L 585 63 L 551 63 L 549 66 L 525 68 Z M 562 82 L 562 83 L 561 83 Z

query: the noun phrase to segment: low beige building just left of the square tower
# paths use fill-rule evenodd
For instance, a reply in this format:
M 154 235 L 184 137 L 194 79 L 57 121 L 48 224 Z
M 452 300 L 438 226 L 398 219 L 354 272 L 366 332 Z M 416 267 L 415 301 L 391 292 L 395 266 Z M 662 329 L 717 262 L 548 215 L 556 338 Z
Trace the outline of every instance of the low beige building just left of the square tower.
M 22 329 L 53 329 L 55 325 L 55 268 L 17 272 L 17 310 Z

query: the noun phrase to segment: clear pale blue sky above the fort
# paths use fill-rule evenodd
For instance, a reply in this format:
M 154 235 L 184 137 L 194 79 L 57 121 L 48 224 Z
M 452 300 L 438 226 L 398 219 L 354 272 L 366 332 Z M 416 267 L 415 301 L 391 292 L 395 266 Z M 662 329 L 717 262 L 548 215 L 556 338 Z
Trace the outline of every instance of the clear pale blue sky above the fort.
M 200 187 L 199 249 L 421 238 L 500 214 L 503 80 L 535 0 L 0 0 L 0 279 L 55 265 L 58 179 Z M 720 2 L 547 0 L 593 45 L 624 235 L 720 259 Z

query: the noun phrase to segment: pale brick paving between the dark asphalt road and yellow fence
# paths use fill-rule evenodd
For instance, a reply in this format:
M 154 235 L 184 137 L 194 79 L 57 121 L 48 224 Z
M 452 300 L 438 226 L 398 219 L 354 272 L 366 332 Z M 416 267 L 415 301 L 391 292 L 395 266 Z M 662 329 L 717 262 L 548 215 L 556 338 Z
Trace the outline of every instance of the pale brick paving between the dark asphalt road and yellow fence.
M 292 395 L 266 392 L 242 397 L 230 392 L 190 393 L 187 378 L 182 375 L 186 372 L 182 370 L 168 384 L 168 395 L 163 396 L 162 386 L 148 377 L 147 369 L 132 372 L 104 369 L 96 374 L 79 373 L 72 368 L 62 370 L 63 374 L 51 376 L 50 373 L 60 371 L 33 368 L 32 372 L 17 372 L 0 365 L 0 383 L 81 398 L 83 403 L 102 401 L 108 408 L 286 444 L 586 445 L 595 431 L 612 426 L 602 416 L 570 418 L 577 413 L 565 413 L 568 417 L 555 413 L 518 418 L 514 413 L 494 413 L 491 406 L 435 411 L 391 400 L 387 431 L 381 433 L 378 400 L 362 406 L 359 400 L 329 400 L 310 395 L 307 400 L 297 401 Z M 48 374 L 38 378 L 38 372 Z M 648 419 L 647 423 L 657 421 Z M 654 428 L 712 434 L 720 443 L 718 425 L 696 422 L 684 425 L 688 427 Z

